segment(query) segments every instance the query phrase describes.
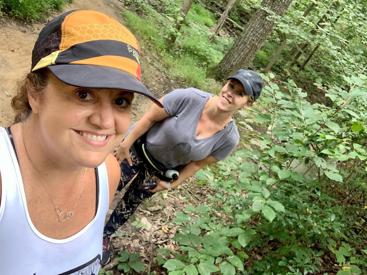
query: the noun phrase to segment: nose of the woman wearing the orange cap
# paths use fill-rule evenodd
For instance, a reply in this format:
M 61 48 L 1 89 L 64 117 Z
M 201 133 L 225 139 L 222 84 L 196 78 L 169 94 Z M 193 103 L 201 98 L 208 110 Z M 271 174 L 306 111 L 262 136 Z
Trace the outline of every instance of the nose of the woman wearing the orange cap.
M 101 129 L 111 129 L 115 125 L 115 117 L 111 102 L 101 101 L 95 104 L 94 110 L 89 117 L 89 121 Z

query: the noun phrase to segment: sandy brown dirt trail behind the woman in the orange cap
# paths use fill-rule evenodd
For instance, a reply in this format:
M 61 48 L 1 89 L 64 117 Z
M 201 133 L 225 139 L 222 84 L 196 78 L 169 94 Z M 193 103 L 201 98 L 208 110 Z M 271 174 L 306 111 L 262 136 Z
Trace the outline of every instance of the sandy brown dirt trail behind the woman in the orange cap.
M 78 0 L 69 4 L 64 11 L 85 9 L 104 12 L 120 20 L 120 8 L 123 4 L 118 0 Z M 0 125 L 9 126 L 13 120 L 10 102 L 15 93 L 17 81 L 30 70 L 31 55 L 34 42 L 47 20 L 56 17 L 58 13 L 35 24 L 27 25 L 8 17 L 0 19 Z M 142 49 L 143 51 L 143 49 Z M 152 66 L 153 61 L 146 59 L 142 53 L 142 82 L 156 96 L 163 96 L 172 91 L 175 84 Z M 137 121 L 151 105 L 150 100 L 136 96 L 134 100 L 132 122 Z

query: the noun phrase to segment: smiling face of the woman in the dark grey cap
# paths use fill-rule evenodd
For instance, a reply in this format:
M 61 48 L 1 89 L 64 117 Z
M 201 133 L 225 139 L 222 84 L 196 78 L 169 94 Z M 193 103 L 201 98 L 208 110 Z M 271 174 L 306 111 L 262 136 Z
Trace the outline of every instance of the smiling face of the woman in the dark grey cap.
M 248 95 L 243 85 L 239 80 L 231 79 L 219 93 L 217 107 L 223 111 L 235 112 L 248 106 Z

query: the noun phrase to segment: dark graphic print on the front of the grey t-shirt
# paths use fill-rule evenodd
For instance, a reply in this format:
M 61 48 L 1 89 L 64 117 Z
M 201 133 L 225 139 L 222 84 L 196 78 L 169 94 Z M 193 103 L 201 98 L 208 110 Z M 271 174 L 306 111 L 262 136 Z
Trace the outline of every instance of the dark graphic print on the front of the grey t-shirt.
M 176 162 L 183 163 L 182 157 L 191 152 L 191 144 L 188 142 L 180 142 L 173 148 L 167 145 L 152 145 L 149 146 L 149 152 L 157 159 L 163 162 L 168 162 L 174 159 Z

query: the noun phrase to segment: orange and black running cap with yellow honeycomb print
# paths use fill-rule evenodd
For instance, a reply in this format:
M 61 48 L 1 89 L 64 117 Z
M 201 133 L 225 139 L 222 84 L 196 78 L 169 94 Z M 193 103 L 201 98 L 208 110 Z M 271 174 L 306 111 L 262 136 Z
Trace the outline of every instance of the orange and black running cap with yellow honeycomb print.
M 137 92 L 163 107 L 141 83 L 138 41 L 102 12 L 73 10 L 48 22 L 34 44 L 31 71 L 44 67 L 68 85 Z

